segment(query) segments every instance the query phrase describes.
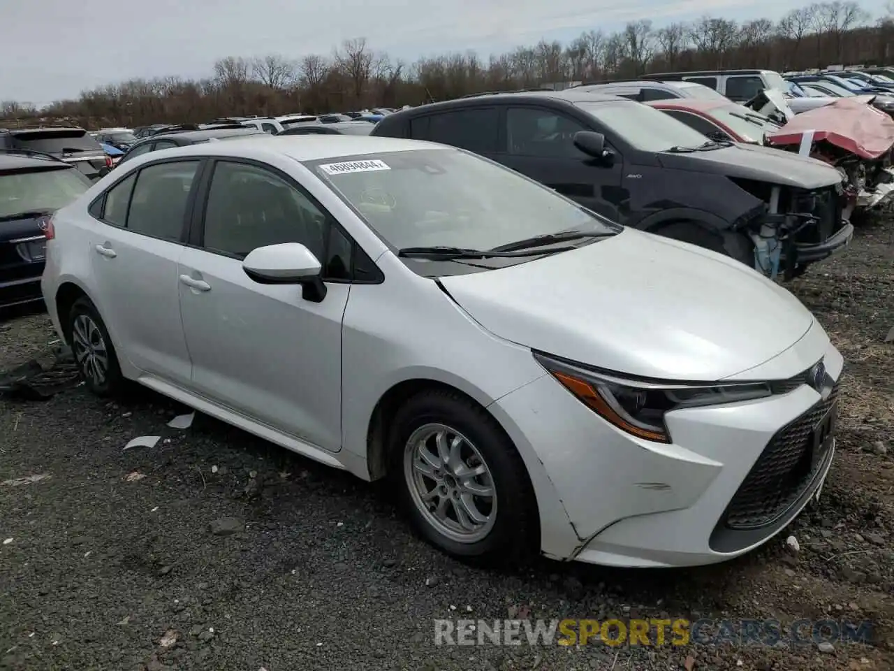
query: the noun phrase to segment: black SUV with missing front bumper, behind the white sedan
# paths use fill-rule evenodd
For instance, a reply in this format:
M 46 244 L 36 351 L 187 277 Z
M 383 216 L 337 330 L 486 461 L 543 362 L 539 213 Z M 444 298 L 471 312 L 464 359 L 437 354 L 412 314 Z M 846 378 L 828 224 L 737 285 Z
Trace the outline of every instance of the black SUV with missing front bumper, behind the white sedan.
M 659 110 L 576 89 L 482 94 L 384 117 L 372 135 L 468 149 L 620 224 L 795 276 L 843 249 L 841 176 L 709 140 Z

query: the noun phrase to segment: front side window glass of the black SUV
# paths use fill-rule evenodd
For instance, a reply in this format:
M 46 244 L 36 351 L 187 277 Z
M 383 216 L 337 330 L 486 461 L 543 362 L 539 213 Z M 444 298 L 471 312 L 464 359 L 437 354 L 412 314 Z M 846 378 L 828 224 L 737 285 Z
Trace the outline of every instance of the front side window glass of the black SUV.
M 588 130 L 566 115 L 535 107 L 506 110 L 506 142 L 510 154 L 542 158 L 584 158 L 574 136 Z

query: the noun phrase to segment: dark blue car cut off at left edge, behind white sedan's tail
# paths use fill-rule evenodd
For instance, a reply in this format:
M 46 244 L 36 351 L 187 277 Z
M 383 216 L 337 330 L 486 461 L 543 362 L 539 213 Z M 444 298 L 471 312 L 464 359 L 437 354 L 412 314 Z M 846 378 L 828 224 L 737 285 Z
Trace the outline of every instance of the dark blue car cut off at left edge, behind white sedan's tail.
M 43 300 L 43 226 L 90 184 L 74 166 L 48 154 L 0 150 L 0 307 Z

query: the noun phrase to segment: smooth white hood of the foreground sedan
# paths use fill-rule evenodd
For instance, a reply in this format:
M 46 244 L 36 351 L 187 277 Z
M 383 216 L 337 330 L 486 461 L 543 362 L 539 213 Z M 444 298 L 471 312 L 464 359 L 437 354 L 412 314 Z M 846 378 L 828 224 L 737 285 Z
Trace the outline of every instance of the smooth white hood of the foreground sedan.
M 629 228 L 439 282 L 494 335 L 645 378 L 728 378 L 789 349 L 814 323 L 791 293 L 738 261 Z

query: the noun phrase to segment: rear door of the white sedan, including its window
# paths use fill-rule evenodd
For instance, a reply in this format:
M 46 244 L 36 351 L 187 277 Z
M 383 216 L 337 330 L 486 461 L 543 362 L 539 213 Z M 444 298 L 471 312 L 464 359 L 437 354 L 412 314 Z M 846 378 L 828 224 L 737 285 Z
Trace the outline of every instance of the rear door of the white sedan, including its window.
M 191 363 L 177 262 L 198 165 L 150 165 L 116 184 L 89 241 L 97 308 L 122 355 L 140 370 L 181 385 L 190 381 Z

